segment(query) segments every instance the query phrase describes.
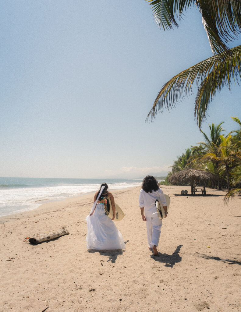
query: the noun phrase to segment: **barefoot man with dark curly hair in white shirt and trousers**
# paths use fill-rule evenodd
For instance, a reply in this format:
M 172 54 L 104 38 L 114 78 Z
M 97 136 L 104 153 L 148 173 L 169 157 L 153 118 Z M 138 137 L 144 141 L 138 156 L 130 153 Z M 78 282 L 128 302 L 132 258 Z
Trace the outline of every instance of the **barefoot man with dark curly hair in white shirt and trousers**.
M 142 220 L 146 221 L 147 242 L 150 249 L 153 249 L 153 255 L 158 256 L 157 246 L 159 243 L 162 221 L 159 219 L 155 201 L 160 199 L 167 217 L 167 204 L 162 189 L 153 176 L 147 176 L 143 179 L 142 189 L 139 195 L 139 206 Z M 145 215 L 144 215 L 145 209 Z

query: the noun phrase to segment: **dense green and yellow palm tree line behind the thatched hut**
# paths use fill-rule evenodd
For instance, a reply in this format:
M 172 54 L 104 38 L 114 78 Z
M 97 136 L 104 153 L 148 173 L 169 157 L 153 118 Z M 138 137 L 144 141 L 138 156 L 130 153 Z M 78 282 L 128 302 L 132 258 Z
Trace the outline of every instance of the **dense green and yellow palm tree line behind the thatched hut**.
M 217 177 L 217 182 L 212 182 L 209 186 L 219 190 L 227 189 L 226 201 L 235 194 L 241 195 L 241 121 L 238 117 L 232 119 L 237 123 L 238 129 L 229 134 L 224 134 L 224 122 L 209 125 L 209 134 L 201 131 L 204 140 L 177 157 L 161 184 L 169 185 L 168 178 L 175 172 L 196 168 Z

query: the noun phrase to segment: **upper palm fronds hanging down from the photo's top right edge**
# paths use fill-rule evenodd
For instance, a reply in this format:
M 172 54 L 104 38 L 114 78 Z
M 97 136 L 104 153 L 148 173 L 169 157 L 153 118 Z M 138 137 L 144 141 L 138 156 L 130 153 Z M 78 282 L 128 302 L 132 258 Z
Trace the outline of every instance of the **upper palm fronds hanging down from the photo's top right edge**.
M 240 0 L 146 0 L 160 28 L 178 27 L 187 8 L 196 5 L 202 14 L 204 29 L 213 53 L 228 52 L 226 43 L 236 39 L 241 32 Z M 176 18 L 176 19 L 175 19 Z

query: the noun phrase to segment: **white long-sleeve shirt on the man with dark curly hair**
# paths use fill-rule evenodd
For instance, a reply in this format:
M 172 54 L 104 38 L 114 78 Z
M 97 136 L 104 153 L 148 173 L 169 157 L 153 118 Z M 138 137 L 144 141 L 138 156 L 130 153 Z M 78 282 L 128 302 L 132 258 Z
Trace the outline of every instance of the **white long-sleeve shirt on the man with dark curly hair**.
M 157 191 L 152 190 L 152 193 L 146 193 L 143 188 L 140 190 L 139 206 L 145 207 L 146 217 L 154 216 L 152 214 L 156 212 L 155 201 L 157 198 L 160 199 L 163 206 L 166 206 L 166 199 L 161 188 Z

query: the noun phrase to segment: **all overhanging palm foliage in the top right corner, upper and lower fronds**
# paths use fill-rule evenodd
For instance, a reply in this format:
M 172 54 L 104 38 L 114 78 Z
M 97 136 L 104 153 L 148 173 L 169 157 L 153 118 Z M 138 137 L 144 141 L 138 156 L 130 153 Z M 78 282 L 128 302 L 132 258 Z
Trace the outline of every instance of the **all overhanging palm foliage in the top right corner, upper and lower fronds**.
M 198 85 L 195 99 L 195 118 L 199 128 L 206 117 L 210 101 L 224 86 L 241 78 L 241 46 L 229 49 L 227 43 L 241 32 L 241 1 L 239 0 L 146 0 L 152 6 L 155 21 L 164 30 L 178 26 L 183 11 L 196 4 L 202 15 L 204 28 L 214 56 L 191 66 L 171 78 L 161 88 L 146 120 L 153 120 L 158 111 L 175 108 L 192 94 Z

